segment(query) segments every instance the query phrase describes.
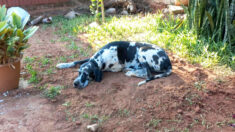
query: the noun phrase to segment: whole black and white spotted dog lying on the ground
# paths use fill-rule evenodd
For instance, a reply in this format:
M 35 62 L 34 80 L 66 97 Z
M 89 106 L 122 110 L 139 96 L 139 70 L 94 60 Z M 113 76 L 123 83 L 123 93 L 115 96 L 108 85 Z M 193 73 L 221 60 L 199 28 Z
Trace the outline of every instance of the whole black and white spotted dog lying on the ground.
M 70 63 L 60 63 L 59 69 L 80 64 L 79 76 L 74 80 L 74 87 L 84 88 L 89 81 L 102 80 L 103 71 L 127 71 L 126 76 L 136 76 L 146 80 L 138 86 L 171 74 L 172 66 L 166 52 L 147 43 L 116 41 L 102 47 L 91 58 Z

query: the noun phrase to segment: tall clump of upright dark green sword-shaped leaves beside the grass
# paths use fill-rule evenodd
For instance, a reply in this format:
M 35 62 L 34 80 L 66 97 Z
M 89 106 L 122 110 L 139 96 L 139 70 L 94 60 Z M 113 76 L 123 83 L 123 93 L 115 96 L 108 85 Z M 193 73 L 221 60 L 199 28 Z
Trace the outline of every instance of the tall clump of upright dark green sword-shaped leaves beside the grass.
M 198 37 L 235 46 L 235 0 L 190 0 L 187 14 Z

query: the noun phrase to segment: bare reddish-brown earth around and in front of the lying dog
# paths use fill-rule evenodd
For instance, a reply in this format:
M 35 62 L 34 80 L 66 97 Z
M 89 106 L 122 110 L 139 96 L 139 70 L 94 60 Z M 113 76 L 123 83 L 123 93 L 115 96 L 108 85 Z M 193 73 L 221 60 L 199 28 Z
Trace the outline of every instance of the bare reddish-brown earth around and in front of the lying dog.
M 138 87 L 142 79 L 106 72 L 101 83 L 92 82 L 78 90 L 72 86 L 78 74 L 75 68 L 45 72 L 55 67 L 61 56 L 78 54 L 67 61 L 86 58 L 66 48 L 68 42 L 59 41 L 55 31 L 41 28 L 30 39 L 32 45 L 24 56 L 36 56 L 33 68 L 40 81 L 0 96 L 0 131 L 83 132 L 95 122 L 100 124 L 100 132 L 235 131 L 229 126 L 235 114 L 235 77 L 220 78 L 169 53 L 173 64 L 169 77 Z M 88 44 L 79 39 L 75 42 L 91 55 Z M 42 66 L 42 57 L 51 63 Z M 28 80 L 30 74 L 22 63 L 22 78 Z M 52 100 L 39 90 L 58 85 L 65 89 Z

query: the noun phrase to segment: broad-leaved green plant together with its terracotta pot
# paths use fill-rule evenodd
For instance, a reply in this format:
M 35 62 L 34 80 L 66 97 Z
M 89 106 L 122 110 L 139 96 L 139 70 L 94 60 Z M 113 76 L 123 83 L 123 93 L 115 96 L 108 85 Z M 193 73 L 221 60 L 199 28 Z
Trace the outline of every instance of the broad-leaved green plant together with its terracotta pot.
M 14 12 L 6 16 L 6 11 L 0 5 L 0 92 L 18 88 L 22 51 L 29 47 L 27 41 L 38 29 L 25 29 L 29 17 L 22 19 Z

